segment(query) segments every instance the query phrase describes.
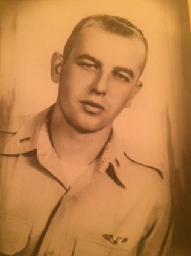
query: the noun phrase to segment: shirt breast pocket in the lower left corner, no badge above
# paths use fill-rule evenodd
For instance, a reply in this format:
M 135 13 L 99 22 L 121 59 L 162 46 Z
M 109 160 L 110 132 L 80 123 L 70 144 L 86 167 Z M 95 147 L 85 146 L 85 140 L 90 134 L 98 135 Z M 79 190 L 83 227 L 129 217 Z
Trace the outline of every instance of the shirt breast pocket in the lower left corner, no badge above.
M 31 225 L 23 220 L 0 215 L 0 255 L 14 255 L 27 245 Z

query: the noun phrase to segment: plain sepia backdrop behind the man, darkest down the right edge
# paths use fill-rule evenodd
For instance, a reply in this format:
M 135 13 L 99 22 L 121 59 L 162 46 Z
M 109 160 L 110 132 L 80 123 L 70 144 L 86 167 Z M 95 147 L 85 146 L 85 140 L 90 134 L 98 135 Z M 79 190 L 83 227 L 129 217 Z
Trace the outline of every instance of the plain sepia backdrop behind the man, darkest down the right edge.
M 191 7 L 190 0 L 189 4 Z M 172 255 L 190 255 L 191 39 L 187 0 L 0 1 L 0 112 L 33 114 L 55 102 L 58 84 L 50 79 L 52 53 L 63 51 L 81 18 L 96 13 L 130 19 L 148 39 L 143 88 L 115 126 L 131 157 L 160 168 L 169 177 L 175 218 Z

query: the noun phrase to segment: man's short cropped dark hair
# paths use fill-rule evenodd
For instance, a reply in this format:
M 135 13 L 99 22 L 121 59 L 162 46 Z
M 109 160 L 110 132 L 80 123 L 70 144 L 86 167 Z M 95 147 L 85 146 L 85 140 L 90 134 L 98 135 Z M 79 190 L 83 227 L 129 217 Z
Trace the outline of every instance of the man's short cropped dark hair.
M 133 23 L 128 21 L 127 19 L 118 17 L 118 16 L 111 16 L 111 15 L 92 15 L 87 16 L 84 19 L 81 19 L 80 22 L 74 27 L 74 30 L 70 34 L 69 38 L 67 39 L 66 45 L 64 47 L 63 56 L 64 61 L 67 60 L 69 54 L 74 47 L 74 43 L 78 40 L 78 35 L 83 28 L 93 27 L 98 25 L 105 31 L 109 31 L 111 33 L 116 33 L 124 37 L 137 37 L 142 39 L 143 43 L 145 44 L 145 62 L 143 64 L 143 68 L 146 64 L 146 59 L 148 55 L 148 42 L 139 28 L 137 28 Z M 142 70 L 143 71 L 143 70 Z

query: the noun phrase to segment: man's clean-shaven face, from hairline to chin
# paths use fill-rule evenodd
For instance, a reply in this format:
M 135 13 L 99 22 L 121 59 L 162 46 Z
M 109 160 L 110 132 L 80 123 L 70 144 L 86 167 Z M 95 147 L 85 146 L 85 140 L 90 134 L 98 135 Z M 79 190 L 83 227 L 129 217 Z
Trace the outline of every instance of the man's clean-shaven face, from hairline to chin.
M 111 126 L 140 88 L 144 59 L 145 46 L 138 38 L 99 27 L 82 30 L 67 60 L 60 59 L 57 104 L 63 118 L 83 132 Z

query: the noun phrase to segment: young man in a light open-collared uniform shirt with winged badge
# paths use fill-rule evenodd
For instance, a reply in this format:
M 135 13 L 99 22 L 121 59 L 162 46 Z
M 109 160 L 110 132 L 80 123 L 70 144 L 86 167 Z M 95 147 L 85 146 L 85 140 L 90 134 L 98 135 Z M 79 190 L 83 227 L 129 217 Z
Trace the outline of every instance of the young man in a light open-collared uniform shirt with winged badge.
M 0 255 L 167 254 L 168 185 L 112 129 L 142 87 L 147 51 L 129 21 L 95 15 L 54 53 L 57 102 L 1 148 Z

